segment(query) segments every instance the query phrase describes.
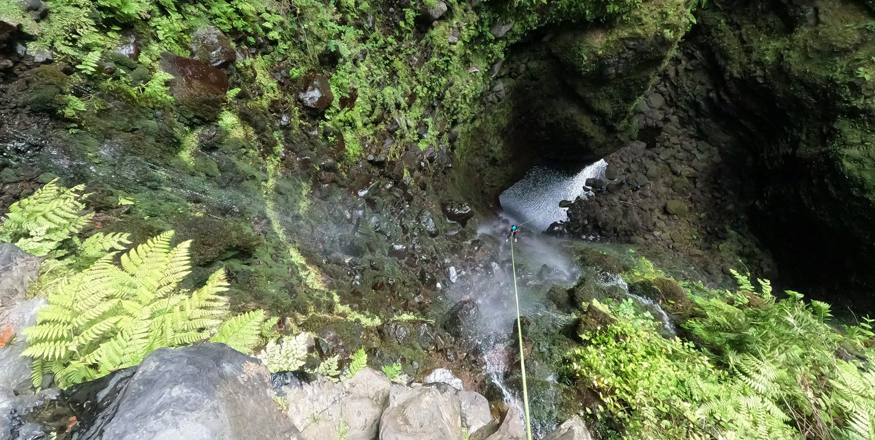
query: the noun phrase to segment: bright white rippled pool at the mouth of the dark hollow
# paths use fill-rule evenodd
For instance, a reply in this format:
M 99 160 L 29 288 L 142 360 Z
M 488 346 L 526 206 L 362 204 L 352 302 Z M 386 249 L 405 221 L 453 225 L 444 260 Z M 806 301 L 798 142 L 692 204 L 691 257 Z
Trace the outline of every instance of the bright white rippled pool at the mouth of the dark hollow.
M 560 207 L 559 203 L 586 196 L 586 179 L 603 177 L 605 168 L 607 162 L 604 159 L 592 163 L 576 175 L 549 165 L 535 165 L 519 182 L 499 196 L 504 209 L 502 216 L 516 223 L 528 222 L 537 230 L 546 230 L 550 223 L 568 220 L 568 209 Z

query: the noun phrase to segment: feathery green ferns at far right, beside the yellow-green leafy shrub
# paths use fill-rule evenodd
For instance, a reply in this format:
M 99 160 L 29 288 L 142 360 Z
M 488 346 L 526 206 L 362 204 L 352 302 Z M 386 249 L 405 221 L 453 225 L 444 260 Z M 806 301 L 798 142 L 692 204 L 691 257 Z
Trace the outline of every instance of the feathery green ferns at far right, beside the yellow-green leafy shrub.
M 737 278 L 742 291 L 753 292 L 746 277 Z M 754 293 L 762 306 L 742 307 L 748 297 L 735 297 L 732 306 L 694 297 L 707 318 L 686 327 L 714 348 L 715 361 L 791 416 L 805 436 L 872 437 L 875 369 L 868 361 L 869 323 L 839 333 L 828 324 L 828 304 L 806 304 L 797 292 L 777 301 L 767 281 L 760 285 Z M 843 350 L 857 355 L 837 357 Z

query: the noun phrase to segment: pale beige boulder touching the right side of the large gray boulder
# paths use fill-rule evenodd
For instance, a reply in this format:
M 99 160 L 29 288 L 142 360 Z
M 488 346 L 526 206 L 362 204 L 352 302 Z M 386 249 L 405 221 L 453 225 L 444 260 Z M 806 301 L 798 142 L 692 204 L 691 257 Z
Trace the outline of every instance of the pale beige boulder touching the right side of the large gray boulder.
M 320 377 L 315 382 L 284 387 L 288 414 L 304 440 L 376 438 L 391 384 L 386 375 L 364 368 L 343 383 Z

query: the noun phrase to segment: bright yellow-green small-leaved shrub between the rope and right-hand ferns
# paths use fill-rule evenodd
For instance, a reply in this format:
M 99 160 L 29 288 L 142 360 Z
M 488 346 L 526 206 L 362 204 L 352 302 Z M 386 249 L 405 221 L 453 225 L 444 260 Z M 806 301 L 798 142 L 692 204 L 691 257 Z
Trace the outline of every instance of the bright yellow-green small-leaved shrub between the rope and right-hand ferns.
M 570 354 L 568 371 L 598 393 L 596 416 L 623 426 L 623 438 L 796 437 L 781 409 L 692 343 L 663 338 L 630 300 L 591 306 L 616 323 L 582 335 L 586 346 Z

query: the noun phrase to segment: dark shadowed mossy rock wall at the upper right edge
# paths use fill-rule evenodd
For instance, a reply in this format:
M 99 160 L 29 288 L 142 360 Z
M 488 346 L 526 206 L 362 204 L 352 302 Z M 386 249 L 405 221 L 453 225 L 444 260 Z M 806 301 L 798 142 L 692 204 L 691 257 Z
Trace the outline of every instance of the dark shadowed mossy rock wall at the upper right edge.
M 781 279 L 830 300 L 871 290 L 872 10 L 715 2 L 697 17 L 669 88 L 682 119 L 735 164 L 739 206 Z M 867 298 L 850 302 L 866 309 Z

